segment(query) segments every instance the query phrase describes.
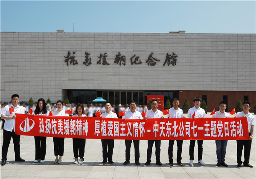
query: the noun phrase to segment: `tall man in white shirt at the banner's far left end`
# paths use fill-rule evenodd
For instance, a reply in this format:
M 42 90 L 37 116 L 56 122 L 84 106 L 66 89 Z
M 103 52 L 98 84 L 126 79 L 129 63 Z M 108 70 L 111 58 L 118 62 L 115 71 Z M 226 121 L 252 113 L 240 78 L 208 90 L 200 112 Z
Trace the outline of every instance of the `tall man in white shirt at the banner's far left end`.
M 5 119 L 3 127 L 3 147 L 2 147 L 2 162 L 1 165 L 6 165 L 8 147 L 11 141 L 13 140 L 14 152 L 15 152 L 15 161 L 16 162 L 25 162 L 25 160 L 20 158 L 20 135 L 15 134 L 15 118 L 17 114 L 24 114 L 26 112 L 25 107 L 18 105 L 20 101 L 20 96 L 17 94 L 12 95 L 12 104 L 4 107 L 1 112 L 1 118 Z M 10 113 L 10 108 L 14 108 L 14 112 Z

